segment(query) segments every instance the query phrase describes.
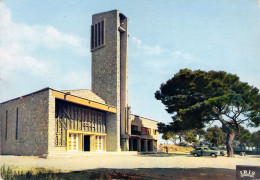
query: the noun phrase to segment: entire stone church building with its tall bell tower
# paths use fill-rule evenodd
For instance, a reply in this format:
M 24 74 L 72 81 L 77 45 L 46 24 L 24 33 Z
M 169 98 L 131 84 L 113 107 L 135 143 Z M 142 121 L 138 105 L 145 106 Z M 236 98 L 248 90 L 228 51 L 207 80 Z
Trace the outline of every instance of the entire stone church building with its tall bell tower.
M 157 152 L 157 122 L 130 112 L 128 19 L 92 16 L 92 90 L 39 91 L 0 104 L 0 154 Z

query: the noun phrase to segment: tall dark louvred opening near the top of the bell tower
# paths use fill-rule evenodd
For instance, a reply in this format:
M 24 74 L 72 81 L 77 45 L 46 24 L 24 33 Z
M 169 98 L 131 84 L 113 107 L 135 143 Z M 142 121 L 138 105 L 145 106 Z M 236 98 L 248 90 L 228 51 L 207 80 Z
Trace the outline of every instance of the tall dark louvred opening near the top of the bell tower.
M 91 51 L 105 45 L 104 20 L 91 26 Z

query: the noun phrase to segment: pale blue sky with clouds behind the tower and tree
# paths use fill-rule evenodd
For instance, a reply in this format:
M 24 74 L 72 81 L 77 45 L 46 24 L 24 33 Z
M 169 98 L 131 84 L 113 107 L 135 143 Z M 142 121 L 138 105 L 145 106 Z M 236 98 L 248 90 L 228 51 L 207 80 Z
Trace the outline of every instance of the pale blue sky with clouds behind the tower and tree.
M 91 89 L 91 15 L 112 9 L 129 18 L 133 114 L 170 122 L 154 93 L 182 68 L 260 88 L 257 0 L 2 0 L 0 102 L 44 87 Z

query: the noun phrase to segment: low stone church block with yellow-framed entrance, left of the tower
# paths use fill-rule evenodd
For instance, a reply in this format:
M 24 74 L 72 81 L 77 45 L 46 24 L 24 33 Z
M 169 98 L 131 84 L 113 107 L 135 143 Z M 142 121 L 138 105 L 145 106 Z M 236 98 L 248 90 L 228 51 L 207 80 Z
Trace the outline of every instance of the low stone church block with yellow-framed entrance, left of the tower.
M 74 95 L 69 95 L 71 99 L 65 100 L 67 96 L 68 95 L 65 92 L 45 88 L 43 90 L 1 103 L 0 154 L 38 155 L 47 157 L 51 154 L 66 153 L 68 151 L 68 136 L 70 134 L 77 134 L 79 136 L 79 142 L 77 145 L 79 147 L 79 151 L 84 150 L 84 135 L 91 136 L 91 144 L 89 144 L 91 146 L 91 151 L 96 151 L 96 136 L 103 137 L 103 151 L 119 151 L 119 139 L 115 138 L 118 137 L 116 132 L 117 129 L 119 129 L 119 127 L 115 126 L 115 124 L 119 123 L 117 123 L 116 111 L 113 110 L 113 107 L 104 104 L 100 107 L 98 106 L 98 103 L 95 103 L 95 101 L 90 101 Z M 75 97 L 77 98 L 74 99 Z M 57 146 L 57 144 L 55 144 L 55 138 L 57 137 L 56 116 L 58 101 L 60 104 L 64 104 L 65 107 L 67 107 L 70 103 L 74 105 L 75 108 L 79 106 L 81 110 L 84 108 L 85 112 L 95 113 L 96 115 L 91 114 L 93 125 L 95 125 L 93 128 L 98 128 L 96 126 L 99 122 L 99 115 L 97 113 L 102 113 L 104 115 L 104 119 L 101 121 L 103 123 L 103 131 L 101 133 L 99 133 L 96 129 L 94 131 L 83 131 L 83 125 L 81 124 L 83 123 L 83 120 L 87 121 L 90 116 L 87 116 L 86 114 L 86 117 L 83 117 L 82 115 L 80 117 L 79 115 L 82 113 L 79 114 L 78 108 L 76 111 L 78 114 L 75 114 L 75 111 L 70 112 L 70 114 L 73 115 L 70 121 L 72 121 L 72 119 L 76 120 L 77 123 L 81 125 L 81 128 L 78 130 L 75 130 L 75 128 L 71 129 L 67 124 L 65 127 L 66 131 L 64 132 L 66 133 L 66 145 Z M 97 105 L 91 105 L 92 103 Z M 94 106 L 97 109 L 95 109 Z M 61 117 L 64 118 L 64 115 L 65 114 L 63 113 Z M 65 119 L 61 120 L 64 121 Z M 106 142 L 109 143 L 107 144 Z

